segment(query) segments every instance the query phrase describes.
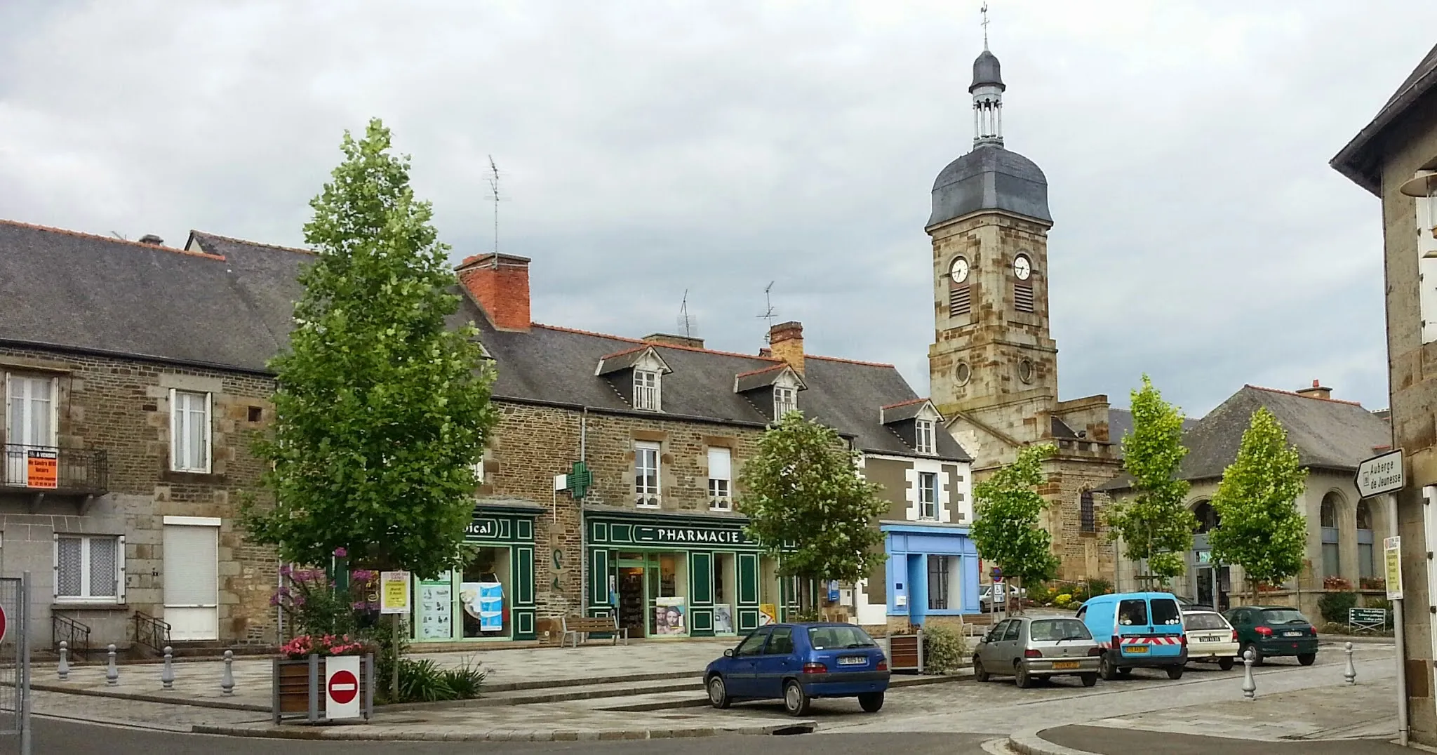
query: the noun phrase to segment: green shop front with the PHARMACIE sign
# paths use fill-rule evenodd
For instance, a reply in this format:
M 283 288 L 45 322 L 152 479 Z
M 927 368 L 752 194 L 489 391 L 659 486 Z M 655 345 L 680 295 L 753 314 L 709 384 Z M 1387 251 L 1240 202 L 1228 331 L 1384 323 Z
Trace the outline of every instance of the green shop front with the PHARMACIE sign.
M 589 616 L 629 637 L 752 631 L 798 611 L 792 580 L 743 532 L 746 519 L 585 512 Z

